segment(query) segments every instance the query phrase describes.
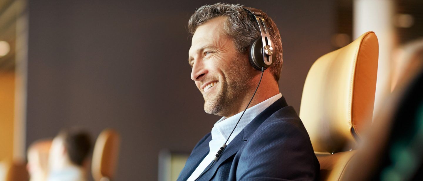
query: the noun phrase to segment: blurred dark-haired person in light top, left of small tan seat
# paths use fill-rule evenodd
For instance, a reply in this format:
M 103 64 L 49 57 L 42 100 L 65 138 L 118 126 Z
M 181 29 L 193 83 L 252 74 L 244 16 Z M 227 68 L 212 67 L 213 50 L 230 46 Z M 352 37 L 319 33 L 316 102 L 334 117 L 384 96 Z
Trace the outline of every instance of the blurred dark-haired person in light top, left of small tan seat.
M 79 129 L 61 131 L 53 139 L 47 181 L 86 181 L 90 137 Z

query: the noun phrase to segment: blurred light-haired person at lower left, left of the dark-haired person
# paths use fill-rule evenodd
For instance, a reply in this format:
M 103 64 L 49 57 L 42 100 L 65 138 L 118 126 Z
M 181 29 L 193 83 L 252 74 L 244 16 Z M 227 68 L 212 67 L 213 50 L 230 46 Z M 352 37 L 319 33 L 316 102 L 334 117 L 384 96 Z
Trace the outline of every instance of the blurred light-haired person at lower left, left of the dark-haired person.
M 45 181 L 52 140 L 39 140 L 28 148 L 27 170 L 30 181 Z

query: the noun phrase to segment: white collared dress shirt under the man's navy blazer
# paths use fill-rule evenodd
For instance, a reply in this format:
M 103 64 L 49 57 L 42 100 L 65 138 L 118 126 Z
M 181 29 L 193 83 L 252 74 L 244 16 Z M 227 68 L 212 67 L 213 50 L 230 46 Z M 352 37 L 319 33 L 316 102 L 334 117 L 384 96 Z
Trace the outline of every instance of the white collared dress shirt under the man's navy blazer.
M 247 126 L 248 123 L 253 121 L 253 119 L 259 115 L 261 112 L 263 112 L 267 107 L 272 105 L 277 99 L 280 99 L 282 97 L 281 93 L 276 94 L 275 96 L 266 99 L 263 102 L 260 102 L 253 107 L 248 108 L 244 115 L 242 116 L 241 120 L 239 121 L 238 125 L 236 126 L 235 130 L 233 131 L 231 137 L 228 140 L 228 143 L 226 145 L 229 145 L 231 143 L 231 140 L 233 140 L 236 135 L 239 134 L 239 132 L 244 129 L 245 126 Z M 210 162 L 214 159 L 214 156 L 216 155 L 217 151 L 219 150 L 220 146 L 222 146 L 226 139 L 228 139 L 229 134 L 231 134 L 233 127 L 235 127 L 236 122 L 239 120 L 239 117 L 241 117 L 242 112 L 239 112 L 236 115 L 233 115 L 229 118 L 222 117 L 219 121 L 217 121 L 214 124 L 213 129 L 211 129 L 211 141 L 209 142 L 210 151 L 209 154 L 203 159 L 203 161 L 198 165 L 198 167 L 194 170 L 194 172 L 191 174 L 190 178 L 188 178 L 187 181 L 194 181 L 195 179 L 200 176 L 201 173 L 203 173 L 203 170 L 209 166 Z M 225 151 L 223 151 L 224 153 Z

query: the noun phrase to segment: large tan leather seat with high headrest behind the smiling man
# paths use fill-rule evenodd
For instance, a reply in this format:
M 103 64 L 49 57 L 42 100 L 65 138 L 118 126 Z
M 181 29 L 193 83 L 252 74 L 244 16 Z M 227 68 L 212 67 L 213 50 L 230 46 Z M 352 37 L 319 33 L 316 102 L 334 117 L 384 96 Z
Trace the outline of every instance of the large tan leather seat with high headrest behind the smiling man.
M 379 45 L 374 32 L 323 55 L 305 80 L 299 117 L 320 162 L 321 180 L 338 181 L 371 123 Z M 347 152 L 346 152 L 347 151 Z

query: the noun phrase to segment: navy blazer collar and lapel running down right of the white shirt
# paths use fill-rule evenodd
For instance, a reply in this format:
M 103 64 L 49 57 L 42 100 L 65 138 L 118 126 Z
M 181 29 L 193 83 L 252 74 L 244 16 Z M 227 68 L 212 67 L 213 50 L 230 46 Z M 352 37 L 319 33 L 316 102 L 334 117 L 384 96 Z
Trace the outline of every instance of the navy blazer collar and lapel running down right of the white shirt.
M 253 121 L 248 123 L 247 126 L 245 126 L 244 129 L 242 129 L 241 132 L 239 132 L 236 137 L 233 138 L 231 143 L 226 147 L 226 149 L 223 151 L 220 158 L 213 164 L 213 166 L 208 170 L 206 173 L 204 173 L 203 176 L 199 180 L 211 180 L 211 178 L 214 176 L 214 173 L 216 173 L 217 168 L 229 157 L 236 154 L 242 146 L 247 142 L 248 137 L 250 137 L 251 134 L 254 133 L 254 131 L 258 128 L 258 126 L 261 125 L 267 118 L 269 118 L 273 113 L 275 113 L 277 110 L 282 109 L 283 107 L 288 106 L 286 104 L 285 98 L 281 97 L 277 101 L 275 101 L 272 105 L 267 107 L 263 112 L 261 112 L 259 115 L 257 115 Z M 207 142 L 208 143 L 208 142 Z M 209 149 L 209 148 L 208 148 Z M 201 160 L 200 160 L 201 162 Z M 195 168 L 194 168 L 195 169 Z M 193 172 L 194 170 L 192 170 Z M 192 173 L 191 172 L 191 173 Z

